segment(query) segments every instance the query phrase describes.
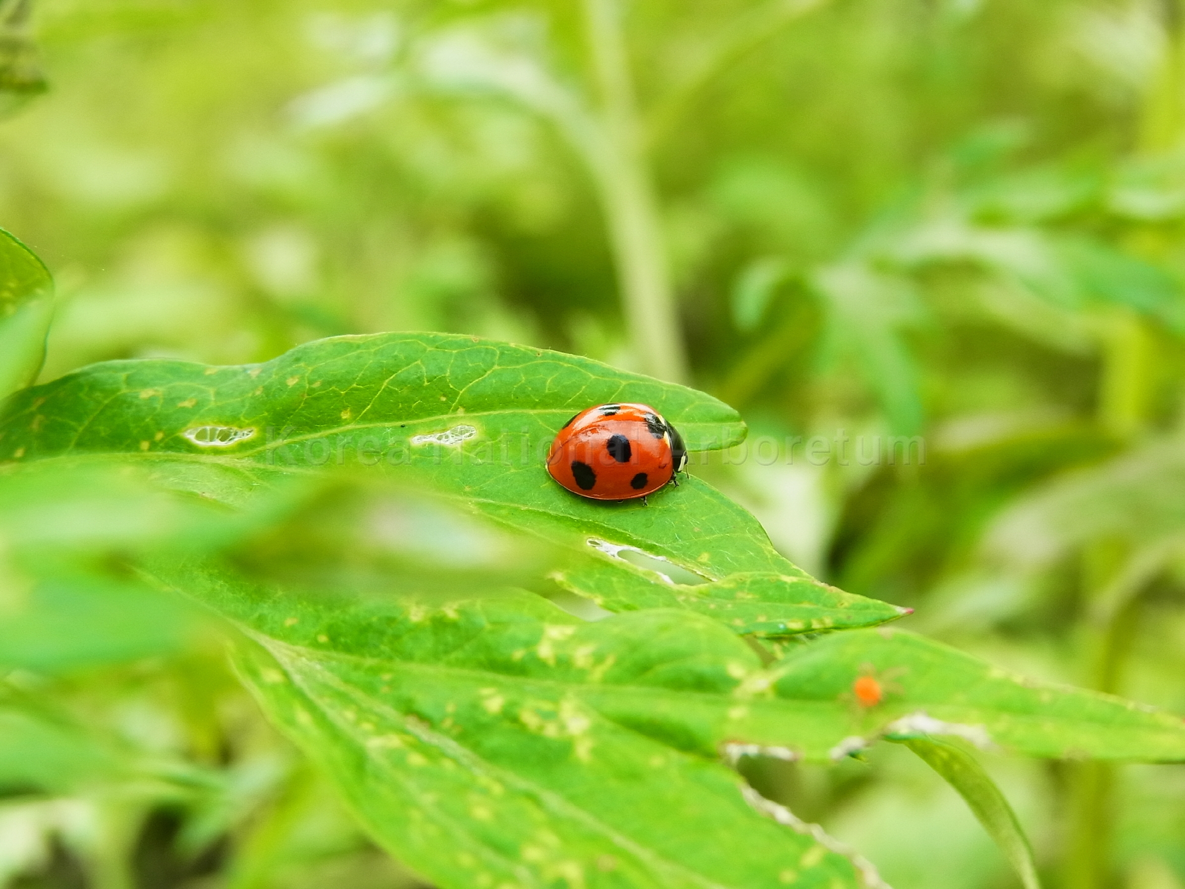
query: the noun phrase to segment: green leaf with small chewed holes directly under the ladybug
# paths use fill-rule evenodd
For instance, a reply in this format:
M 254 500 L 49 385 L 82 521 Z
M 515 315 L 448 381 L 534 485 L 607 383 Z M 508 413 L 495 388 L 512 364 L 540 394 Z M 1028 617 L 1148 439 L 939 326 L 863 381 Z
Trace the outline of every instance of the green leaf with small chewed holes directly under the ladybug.
M 636 587 L 652 605 L 769 635 L 904 613 L 805 580 L 752 516 L 699 479 L 665 488 L 648 506 L 564 491 L 544 468 L 547 446 L 575 412 L 613 401 L 653 405 L 692 450 L 744 436 L 736 411 L 691 389 L 558 352 L 391 333 L 320 340 L 239 367 L 84 367 L 13 398 L 0 460 L 123 454 L 204 494 L 235 488 L 231 477 L 250 487 L 350 463 L 422 481 L 578 554 L 563 584 L 610 609 L 630 607 Z M 622 556 L 635 551 L 652 557 L 649 567 Z M 655 564 L 692 583 L 673 586 Z

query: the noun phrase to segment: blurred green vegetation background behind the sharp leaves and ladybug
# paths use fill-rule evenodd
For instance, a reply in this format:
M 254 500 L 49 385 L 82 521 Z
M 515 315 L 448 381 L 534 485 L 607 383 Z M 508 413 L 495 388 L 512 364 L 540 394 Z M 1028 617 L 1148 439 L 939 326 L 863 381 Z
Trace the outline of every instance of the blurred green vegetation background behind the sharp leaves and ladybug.
M 693 469 L 807 570 L 1185 712 L 1180 0 L 0 0 L 0 225 L 60 299 L 43 379 L 437 330 L 687 382 L 780 446 Z M 889 435 L 924 463 L 856 459 Z M 134 776 L 0 798 L 0 885 L 418 885 L 217 644 L 148 653 L 5 679 Z M 72 737 L 34 740 L 51 773 Z M 1013 885 L 888 747 L 751 780 L 897 889 Z M 988 766 L 1049 885 L 1185 887 L 1185 767 Z

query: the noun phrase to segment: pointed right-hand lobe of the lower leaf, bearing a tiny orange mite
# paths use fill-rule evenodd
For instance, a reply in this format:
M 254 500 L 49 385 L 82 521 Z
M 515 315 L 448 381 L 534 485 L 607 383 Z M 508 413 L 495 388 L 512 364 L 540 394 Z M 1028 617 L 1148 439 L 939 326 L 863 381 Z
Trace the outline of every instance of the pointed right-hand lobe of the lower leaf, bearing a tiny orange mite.
M 858 752 L 878 736 L 950 735 L 1030 756 L 1185 760 L 1185 722 L 1179 716 L 1110 695 L 1035 682 L 901 631 L 835 633 L 793 646 L 768 667 L 768 676 L 779 698 L 794 701 L 800 714 L 826 708 L 848 727 L 848 737 L 832 750 L 833 756 Z M 883 697 L 875 706 L 861 706 L 854 698 L 852 685 L 861 676 L 880 685 Z M 837 714 L 841 702 L 846 719 Z M 820 757 L 826 742 L 822 736 L 809 742 L 800 736 L 798 749 Z

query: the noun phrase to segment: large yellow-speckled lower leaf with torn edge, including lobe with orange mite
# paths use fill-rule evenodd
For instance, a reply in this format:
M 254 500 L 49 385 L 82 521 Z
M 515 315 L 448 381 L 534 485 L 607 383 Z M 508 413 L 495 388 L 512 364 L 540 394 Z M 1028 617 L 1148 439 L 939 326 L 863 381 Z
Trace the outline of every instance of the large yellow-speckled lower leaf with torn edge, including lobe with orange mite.
M 763 666 L 686 612 L 584 622 L 529 594 L 295 594 L 175 559 L 150 574 L 241 629 L 241 670 L 271 718 L 387 849 L 443 885 L 474 885 L 478 871 L 527 882 L 521 866 L 534 880 L 578 866 L 600 885 L 606 855 L 606 874 L 632 885 L 776 885 L 787 868 L 809 874 L 803 856 L 854 884 L 846 859 L 741 805 L 757 800 L 720 761 L 745 754 L 832 761 L 880 736 L 950 735 L 1036 755 L 1185 759 L 1176 717 L 899 632 L 792 644 Z M 852 683 L 869 672 L 884 699 L 865 708 Z M 692 814 L 675 831 L 671 811 Z M 742 834 L 752 855 L 728 870 L 738 865 L 720 850 Z

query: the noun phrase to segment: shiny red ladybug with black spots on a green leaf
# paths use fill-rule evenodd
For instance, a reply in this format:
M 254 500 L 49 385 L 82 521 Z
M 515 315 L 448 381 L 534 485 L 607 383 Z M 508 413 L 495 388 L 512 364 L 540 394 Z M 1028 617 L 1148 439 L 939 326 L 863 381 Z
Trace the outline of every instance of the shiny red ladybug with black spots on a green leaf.
M 547 452 L 547 472 L 574 494 L 633 500 L 658 491 L 687 466 L 683 436 L 648 404 L 597 404 L 564 423 Z

